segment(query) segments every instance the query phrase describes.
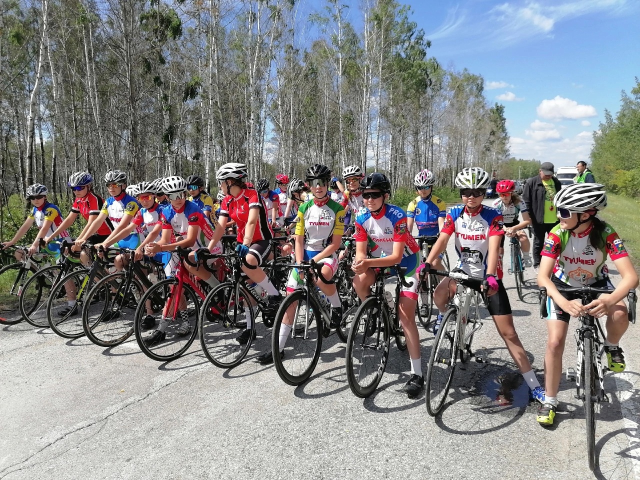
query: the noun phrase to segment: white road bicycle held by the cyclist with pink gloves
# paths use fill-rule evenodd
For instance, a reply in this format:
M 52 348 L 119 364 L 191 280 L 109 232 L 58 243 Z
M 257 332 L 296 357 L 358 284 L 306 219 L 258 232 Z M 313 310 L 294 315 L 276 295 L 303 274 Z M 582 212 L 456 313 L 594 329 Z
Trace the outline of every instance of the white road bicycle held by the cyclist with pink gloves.
M 458 358 L 466 363 L 474 356 L 472 342 L 475 333 L 483 327 L 480 316 L 481 286 L 488 288 L 483 278 L 464 272 L 431 269 L 429 273 L 456 280 L 456 294 L 442 316 L 429 356 L 425 378 L 425 402 L 432 417 L 440 412 L 447 400 Z M 443 280 L 444 281 L 444 280 Z

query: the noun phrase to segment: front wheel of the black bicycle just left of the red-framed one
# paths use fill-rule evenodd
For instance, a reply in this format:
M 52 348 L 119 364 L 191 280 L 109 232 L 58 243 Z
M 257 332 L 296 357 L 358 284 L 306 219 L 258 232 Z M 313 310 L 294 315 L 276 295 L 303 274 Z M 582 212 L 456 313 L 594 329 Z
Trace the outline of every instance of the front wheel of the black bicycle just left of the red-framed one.
M 119 345 L 133 334 L 143 288 L 140 280 L 131 278 L 129 290 L 122 292 L 126 280 L 124 271 L 111 273 L 96 282 L 86 296 L 82 312 L 84 334 L 100 347 Z

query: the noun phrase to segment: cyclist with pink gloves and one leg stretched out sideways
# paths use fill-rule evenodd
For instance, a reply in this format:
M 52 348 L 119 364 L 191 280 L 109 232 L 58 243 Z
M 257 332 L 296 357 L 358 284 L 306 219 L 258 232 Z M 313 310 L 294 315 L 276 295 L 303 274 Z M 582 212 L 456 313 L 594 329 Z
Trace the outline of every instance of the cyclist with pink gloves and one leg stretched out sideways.
M 431 262 L 438 255 L 437 252 L 442 252 L 449 238 L 455 234 L 459 259 L 453 271 L 463 271 L 467 275 L 484 278 L 488 282 L 489 289 L 485 292 L 486 308 L 511 358 L 518 365 L 518 369 L 531 389 L 531 396 L 542 402 L 544 388 L 540 387 L 513 326 L 509 296 L 502 284 L 502 270 L 498 268 L 500 237 L 504 235 L 502 213 L 498 209 L 485 207 L 482 204 L 490 180 L 489 174 L 478 167 L 465 168 L 456 175 L 456 187 L 460 188 L 463 204 L 452 207 L 447 214 L 438 241 L 429 253 L 426 268 L 430 268 Z M 438 332 L 449 300 L 455 294 L 456 281 L 451 279 L 440 282 L 433 292 L 433 303 L 440 310 L 433 328 L 434 335 Z

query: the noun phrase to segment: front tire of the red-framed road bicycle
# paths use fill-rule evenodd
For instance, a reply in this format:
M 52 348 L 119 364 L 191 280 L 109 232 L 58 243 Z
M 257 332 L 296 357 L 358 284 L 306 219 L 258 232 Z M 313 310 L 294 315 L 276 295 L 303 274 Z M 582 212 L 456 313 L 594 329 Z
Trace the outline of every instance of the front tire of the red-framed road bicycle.
M 183 284 L 183 292 L 187 304 L 186 312 L 188 312 L 187 319 L 190 330 L 186 335 L 179 335 L 179 333 L 177 333 L 182 319 L 175 318 L 169 310 L 169 308 L 173 307 L 173 287 L 177 284 L 177 278 L 167 278 L 166 280 L 157 282 L 147 289 L 140 299 L 138 310 L 136 310 L 134 333 L 136 334 L 138 346 L 145 355 L 158 362 L 169 362 L 180 358 L 180 356 L 189 349 L 196 335 L 198 335 L 197 323 L 200 314 L 200 303 L 198 302 L 196 292 L 186 283 Z M 164 338 L 161 337 L 161 339 L 150 345 L 145 344 L 144 340 L 146 337 L 143 337 L 143 333 L 146 332 L 146 330 L 142 326 L 142 319 L 147 315 L 147 308 L 145 307 L 147 300 L 151 301 L 151 308 L 154 312 L 159 311 L 161 314 L 170 314 L 166 319 L 168 325 L 165 328 Z

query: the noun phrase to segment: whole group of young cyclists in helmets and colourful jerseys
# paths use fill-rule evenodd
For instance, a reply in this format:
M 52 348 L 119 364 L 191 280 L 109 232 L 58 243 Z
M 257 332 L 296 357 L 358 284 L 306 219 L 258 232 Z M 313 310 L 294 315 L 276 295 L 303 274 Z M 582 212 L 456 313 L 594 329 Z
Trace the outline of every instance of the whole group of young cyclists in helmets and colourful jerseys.
M 348 230 L 348 234 L 353 233 L 356 245 L 351 269 L 353 287 L 360 300 L 371 296 L 376 271 L 403 272 L 403 287 L 397 301 L 411 369 L 404 391 L 408 397 L 415 398 L 424 388 L 420 337 L 415 323 L 419 291 L 417 271 L 420 268 L 441 269 L 442 252 L 454 236 L 458 259 L 453 270 L 484 280 L 481 289 L 497 332 L 522 373 L 532 399 L 540 402 L 538 422 L 545 426 L 554 422 L 570 316 L 589 312 L 595 317 L 606 317 L 608 367 L 616 372 L 625 369 L 619 345 L 628 326 L 623 298 L 629 289 L 637 287 L 638 278 L 620 237 L 611 225 L 597 216 L 607 205 L 607 196 L 600 184 L 568 186 L 553 200 L 559 224 L 544 244 L 538 274 L 538 285 L 547 288 L 550 298 L 545 387 L 542 387 L 515 330 L 509 296 L 502 283 L 505 236 L 518 239 L 524 266 L 531 267 L 530 245 L 523 231 L 530 223 L 527 205 L 516 195 L 511 180 L 497 184 L 499 199 L 489 207 L 483 205 L 490 185 L 489 174 L 481 168 L 465 168 L 455 179 L 461 204 L 447 209 L 444 201 L 433 195 L 435 176 L 429 170 L 422 170 L 414 179 L 417 196 L 406 210 L 388 203 L 391 184 L 386 175 L 378 172 L 365 175 L 359 166 L 344 168 L 342 180 L 339 180 L 327 166 L 314 164 L 308 168 L 305 179 L 276 175 L 276 188 L 271 189 L 268 179 L 257 180 L 253 188 L 245 164 L 227 163 L 216 172 L 216 180 L 219 190 L 214 200 L 206 193 L 204 180 L 198 175 L 187 179 L 172 176 L 129 185 L 126 173 L 112 170 L 104 177 L 109 197 L 103 200 L 93 191 L 92 175 L 74 173 L 68 180 L 68 187 L 75 200 L 67 218 L 63 218 L 56 205 L 47 201 L 47 188 L 34 184 L 27 189 L 32 207 L 27 219 L 15 236 L 0 246 L 7 248 L 17 243 L 36 223 L 38 234 L 28 254 L 38 251 L 44 243 L 48 252 L 60 255 L 56 241 L 70 239 L 67 229 L 80 214 L 86 225 L 73 243 L 73 253 L 81 252 L 85 243 L 92 243 L 104 252 L 111 246 L 131 248 L 135 251 L 135 260 L 145 255 L 152 257 L 164 265 L 166 276 L 173 276 L 179 263 L 176 250 L 191 248 L 191 261 L 186 268 L 200 281 L 215 287 L 218 278 L 210 268 L 203 268 L 202 262 L 207 260 L 198 260 L 195 251 L 207 248 L 212 253 L 220 253 L 222 237 L 230 231 L 229 227 L 234 227 L 235 252 L 242 259 L 243 274 L 266 295 L 264 315 L 275 316 L 283 300 L 282 294 L 262 266 L 268 260 L 274 230 L 294 225 L 292 242 L 285 244 L 282 255 L 291 255 L 296 264 L 313 260 L 321 265 L 322 275 L 318 276 L 316 285 L 330 303 L 331 328 L 339 328 L 343 311 L 333 276 L 339 262 L 340 244 Z M 414 227 L 420 236 L 437 237 L 422 265 L 420 249 L 412 235 Z M 22 254 L 16 250 L 16 255 Z M 622 277 L 615 288 L 607 275 L 607 255 Z M 78 260 L 85 264 L 90 261 L 84 253 Z M 125 264 L 124 257 L 115 257 L 116 269 L 124 268 Z M 303 271 L 291 269 L 286 282 L 287 294 L 302 283 Z M 561 294 L 558 285 L 608 285 L 612 291 L 583 306 L 579 300 Z M 438 331 L 455 293 L 456 282 L 449 278 L 440 281 L 433 292 L 433 303 L 439 310 L 433 333 Z M 67 296 L 68 307 L 61 314 L 76 308 L 69 291 Z M 183 319 L 177 334 L 187 335 L 191 326 L 186 307 L 180 314 Z M 269 364 L 275 355 L 284 355 L 292 317 L 292 312 L 285 313 L 280 330 L 280 351 L 263 353 L 258 358 L 260 363 Z M 143 326 L 151 332 L 145 337 L 145 344 L 162 342 L 168 323 L 164 317 L 158 322 L 153 312 L 148 312 Z M 252 340 L 251 332 L 255 335 L 255 329 L 247 325 L 237 336 L 237 342 L 246 344 Z

